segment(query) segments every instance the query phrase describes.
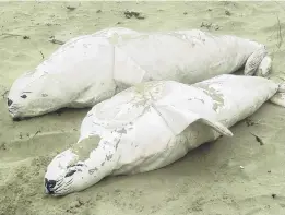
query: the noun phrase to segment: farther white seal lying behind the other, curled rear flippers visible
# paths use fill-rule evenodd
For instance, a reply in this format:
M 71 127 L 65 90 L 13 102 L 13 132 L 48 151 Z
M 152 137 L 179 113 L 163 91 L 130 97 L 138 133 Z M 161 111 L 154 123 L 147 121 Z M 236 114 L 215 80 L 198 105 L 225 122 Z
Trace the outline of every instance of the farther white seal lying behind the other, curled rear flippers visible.
M 21 119 L 63 107 L 93 107 L 136 83 L 169 80 L 192 84 L 244 65 L 247 75 L 257 71 L 266 75 L 271 60 L 265 46 L 199 29 L 146 33 L 107 28 L 69 40 L 16 79 L 8 95 L 8 110 L 13 119 Z

